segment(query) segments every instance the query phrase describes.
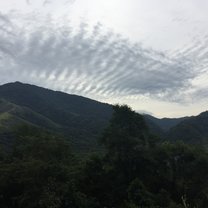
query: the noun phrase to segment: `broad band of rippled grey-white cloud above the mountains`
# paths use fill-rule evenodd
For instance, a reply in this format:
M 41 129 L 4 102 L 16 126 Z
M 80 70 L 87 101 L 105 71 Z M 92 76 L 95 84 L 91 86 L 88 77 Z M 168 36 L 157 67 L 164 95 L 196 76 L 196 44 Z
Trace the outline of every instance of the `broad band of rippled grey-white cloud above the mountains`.
M 192 80 L 207 69 L 204 41 L 164 54 L 100 23 L 74 28 L 63 19 L 0 14 L 0 82 L 19 80 L 93 98 L 185 102 L 194 94 Z

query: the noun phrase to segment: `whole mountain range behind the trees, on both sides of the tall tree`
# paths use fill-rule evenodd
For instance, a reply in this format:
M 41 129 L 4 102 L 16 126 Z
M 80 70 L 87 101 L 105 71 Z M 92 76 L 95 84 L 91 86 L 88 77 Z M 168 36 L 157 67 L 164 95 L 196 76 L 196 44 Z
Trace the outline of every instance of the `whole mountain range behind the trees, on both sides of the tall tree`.
M 97 146 L 113 109 L 85 97 L 20 82 L 0 86 L 0 139 L 17 125 L 27 124 L 59 133 L 79 148 Z M 143 115 L 153 134 L 171 141 L 208 143 L 208 112 L 198 116 L 158 119 Z

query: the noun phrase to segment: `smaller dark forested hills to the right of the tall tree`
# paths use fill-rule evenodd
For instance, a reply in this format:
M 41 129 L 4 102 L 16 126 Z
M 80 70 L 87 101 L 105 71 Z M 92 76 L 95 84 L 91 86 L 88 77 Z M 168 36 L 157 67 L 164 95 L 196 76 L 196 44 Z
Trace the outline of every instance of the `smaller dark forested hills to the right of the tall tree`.
M 152 133 L 167 140 L 184 141 L 188 144 L 208 145 L 208 112 L 197 116 L 183 117 L 178 119 L 158 119 L 144 115 Z

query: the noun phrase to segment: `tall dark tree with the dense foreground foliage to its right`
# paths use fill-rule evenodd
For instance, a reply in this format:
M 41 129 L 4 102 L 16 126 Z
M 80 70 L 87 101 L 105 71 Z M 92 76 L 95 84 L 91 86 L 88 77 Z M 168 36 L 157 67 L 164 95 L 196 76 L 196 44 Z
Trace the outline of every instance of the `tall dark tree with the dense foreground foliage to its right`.
M 99 207 L 207 207 L 207 152 L 158 142 L 141 116 L 127 106 L 114 110 L 102 138 L 106 155 L 85 167 L 85 194 Z

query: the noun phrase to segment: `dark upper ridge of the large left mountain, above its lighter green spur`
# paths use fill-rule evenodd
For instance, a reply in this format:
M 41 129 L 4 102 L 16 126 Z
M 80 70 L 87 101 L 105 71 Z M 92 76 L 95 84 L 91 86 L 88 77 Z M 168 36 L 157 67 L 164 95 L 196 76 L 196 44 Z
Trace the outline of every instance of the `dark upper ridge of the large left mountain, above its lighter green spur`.
M 95 144 L 112 114 L 109 104 L 20 82 L 0 86 L 0 99 L 21 106 L 25 114 L 29 109 L 34 115 L 41 115 L 60 127 L 55 131 L 71 137 L 78 146 Z

